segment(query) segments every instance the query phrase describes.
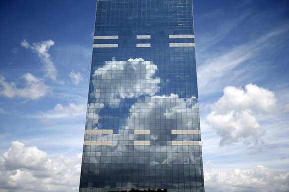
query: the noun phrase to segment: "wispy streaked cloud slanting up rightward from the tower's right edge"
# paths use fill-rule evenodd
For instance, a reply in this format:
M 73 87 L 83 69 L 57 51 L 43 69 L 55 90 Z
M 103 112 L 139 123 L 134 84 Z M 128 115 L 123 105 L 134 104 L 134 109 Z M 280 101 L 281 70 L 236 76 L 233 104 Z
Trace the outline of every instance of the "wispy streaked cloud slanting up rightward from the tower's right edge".
M 212 53 L 209 59 L 204 60 L 198 67 L 200 94 L 212 94 L 228 86 L 229 82 L 236 83 L 249 78 L 246 72 L 252 71 L 252 67 L 247 63 L 270 46 L 270 39 L 288 30 L 289 27 L 282 26 L 251 42 Z

